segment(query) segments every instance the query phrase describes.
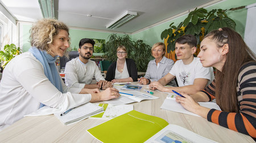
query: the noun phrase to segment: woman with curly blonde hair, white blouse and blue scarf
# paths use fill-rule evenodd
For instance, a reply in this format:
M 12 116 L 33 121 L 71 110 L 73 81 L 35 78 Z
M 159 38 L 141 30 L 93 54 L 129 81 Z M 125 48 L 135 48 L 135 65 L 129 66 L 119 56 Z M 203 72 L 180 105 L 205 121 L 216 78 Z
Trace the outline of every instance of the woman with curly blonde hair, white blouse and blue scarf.
M 30 30 L 31 48 L 12 59 L 0 83 L 0 130 L 49 106 L 59 112 L 87 102 L 104 101 L 119 96 L 108 88 L 82 89 L 65 86 L 57 72 L 57 56 L 63 57 L 69 47 L 68 27 L 55 19 L 37 21 Z

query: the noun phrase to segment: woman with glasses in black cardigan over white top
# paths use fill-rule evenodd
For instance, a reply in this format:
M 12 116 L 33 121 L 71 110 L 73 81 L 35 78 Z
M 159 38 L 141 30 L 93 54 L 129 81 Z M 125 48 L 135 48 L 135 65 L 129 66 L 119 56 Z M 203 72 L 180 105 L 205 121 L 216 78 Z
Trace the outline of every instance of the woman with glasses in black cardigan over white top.
M 112 63 L 106 73 L 106 80 L 112 83 L 138 80 L 137 67 L 133 59 L 128 59 L 125 46 L 117 47 L 117 62 Z

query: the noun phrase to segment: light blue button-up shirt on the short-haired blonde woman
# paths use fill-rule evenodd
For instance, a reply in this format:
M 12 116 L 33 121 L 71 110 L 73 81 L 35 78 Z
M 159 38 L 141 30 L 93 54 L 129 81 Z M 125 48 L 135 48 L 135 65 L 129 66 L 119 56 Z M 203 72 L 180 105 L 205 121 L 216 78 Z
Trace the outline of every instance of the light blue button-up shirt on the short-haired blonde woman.
M 150 79 L 150 81 L 158 81 L 171 71 L 172 66 L 174 66 L 174 60 L 167 59 L 166 57 L 162 58 L 158 66 L 156 66 L 155 59 L 150 60 L 147 64 L 147 71 L 144 77 Z M 176 86 L 175 81 L 171 81 L 170 84 Z

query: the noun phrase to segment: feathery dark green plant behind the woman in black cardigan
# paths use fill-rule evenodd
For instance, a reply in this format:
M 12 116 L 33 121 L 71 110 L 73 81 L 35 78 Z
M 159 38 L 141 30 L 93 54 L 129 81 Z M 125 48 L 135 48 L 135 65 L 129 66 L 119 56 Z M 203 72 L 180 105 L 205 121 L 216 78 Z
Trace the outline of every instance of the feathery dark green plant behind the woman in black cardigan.
M 117 60 L 117 47 L 120 45 L 126 47 L 127 57 L 135 61 L 137 70 L 146 72 L 151 57 L 151 47 L 142 40 L 131 41 L 127 34 L 122 37 L 115 33 L 110 34 L 109 41 L 105 45 L 105 53 L 102 56 L 110 62 L 115 62 Z

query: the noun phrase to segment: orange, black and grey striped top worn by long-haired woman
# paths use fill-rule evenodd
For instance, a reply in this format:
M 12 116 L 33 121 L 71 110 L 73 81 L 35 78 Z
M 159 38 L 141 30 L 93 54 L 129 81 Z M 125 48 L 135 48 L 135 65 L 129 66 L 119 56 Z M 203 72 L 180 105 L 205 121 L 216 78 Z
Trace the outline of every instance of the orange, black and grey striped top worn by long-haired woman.
M 210 101 L 215 98 L 215 80 L 204 90 Z M 237 99 L 240 112 L 225 112 L 211 109 L 207 120 L 223 127 L 256 137 L 256 62 L 244 64 L 237 80 Z

